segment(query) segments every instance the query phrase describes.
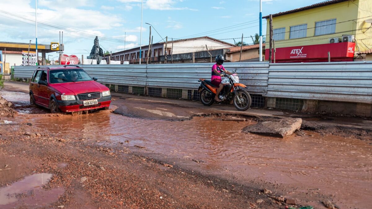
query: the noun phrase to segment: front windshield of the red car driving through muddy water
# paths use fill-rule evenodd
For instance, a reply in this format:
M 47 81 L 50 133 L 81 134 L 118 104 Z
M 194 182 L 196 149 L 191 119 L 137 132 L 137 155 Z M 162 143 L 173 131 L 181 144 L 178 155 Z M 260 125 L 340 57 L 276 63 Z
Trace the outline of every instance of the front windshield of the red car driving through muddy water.
M 91 81 L 92 78 L 81 68 L 60 69 L 49 71 L 50 83 L 68 83 Z

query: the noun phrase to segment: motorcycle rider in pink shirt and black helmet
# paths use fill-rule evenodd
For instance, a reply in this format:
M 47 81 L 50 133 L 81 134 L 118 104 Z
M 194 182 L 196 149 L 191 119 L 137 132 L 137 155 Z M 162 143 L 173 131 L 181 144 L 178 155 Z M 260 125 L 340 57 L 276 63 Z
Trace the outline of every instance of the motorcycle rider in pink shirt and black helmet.
M 228 75 L 231 75 L 232 73 L 230 73 L 229 71 L 227 71 L 224 66 L 222 66 L 222 64 L 224 63 L 225 61 L 225 58 L 224 56 L 222 55 L 217 55 L 216 57 L 216 64 L 214 64 L 212 66 L 212 77 L 211 77 L 211 83 L 214 85 L 214 86 L 218 86 L 218 89 L 217 89 L 217 93 L 214 97 L 214 100 L 216 100 L 217 102 L 221 102 L 221 100 L 218 98 L 218 94 L 222 91 L 222 89 L 224 88 L 224 84 L 221 83 L 221 76 L 223 77 L 224 75 L 222 74 L 222 72 L 228 74 Z

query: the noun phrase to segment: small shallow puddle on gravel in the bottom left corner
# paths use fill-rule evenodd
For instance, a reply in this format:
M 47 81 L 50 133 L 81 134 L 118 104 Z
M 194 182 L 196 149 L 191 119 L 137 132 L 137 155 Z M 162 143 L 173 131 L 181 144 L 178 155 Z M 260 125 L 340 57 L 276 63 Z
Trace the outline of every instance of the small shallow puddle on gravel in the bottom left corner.
M 52 174 L 38 173 L 25 177 L 9 186 L 0 188 L 0 208 L 29 208 L 47 206 L 64 193 L 62 187 L 42 189 Z

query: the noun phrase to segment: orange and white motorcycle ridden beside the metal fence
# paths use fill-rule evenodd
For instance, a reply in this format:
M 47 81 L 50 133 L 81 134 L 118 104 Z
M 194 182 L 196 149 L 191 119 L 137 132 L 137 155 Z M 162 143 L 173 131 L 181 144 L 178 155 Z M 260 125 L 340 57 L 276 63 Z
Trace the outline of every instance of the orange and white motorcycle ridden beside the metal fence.
M 238 74 L 236 74 L 237 69 L 232 71 L 231 75 L 226 75 L 222 77 L 221 83 L 224 84 L 224 88 L 221 93 L 219 93 L 218 98 L 222 103 L 234 103 L 237 110 L 244 111 L 251 106 L 252 99 L 249 93 L 241 87 L 246 88 L 247 86 L 239 83 Z M 211 106 L 214 103 L 214 97 L 217 93 L 218 86 L 214 86 L 211 81 L 199 78 L 200 86 L 200 101 L 205 106 Z

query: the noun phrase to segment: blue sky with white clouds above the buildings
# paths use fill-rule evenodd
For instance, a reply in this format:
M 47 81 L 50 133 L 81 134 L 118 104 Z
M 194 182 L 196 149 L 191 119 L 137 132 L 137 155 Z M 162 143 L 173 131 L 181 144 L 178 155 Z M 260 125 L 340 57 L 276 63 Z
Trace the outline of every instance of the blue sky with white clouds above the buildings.
M 263 0 L 263 16 L 318 2 Z M 0 40 L 35 43 L 35 0 L 0 0 L 0 5 Z M 242 33 L 259 32 L 258 15 L 259 0 L 144 0 L 142 44 L 148 44 L 146 22 L 169 40 L 211 36 L 234 43 L 230 38 L 240 41 Z M 65 54 L 88 55 L 95 35 L 104 51 L 121 51 L 125 32 L 126 48 L 140 42 L 141 0 L 38 0 L 38 21 L 44 23 L 38 28 L 40 44 L 59 42 L 59 31 L 64 31 Z M 154 43 L 161 40 L 154 30 L 152 34 Z

